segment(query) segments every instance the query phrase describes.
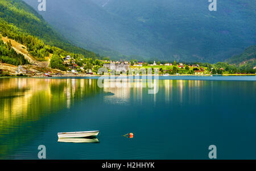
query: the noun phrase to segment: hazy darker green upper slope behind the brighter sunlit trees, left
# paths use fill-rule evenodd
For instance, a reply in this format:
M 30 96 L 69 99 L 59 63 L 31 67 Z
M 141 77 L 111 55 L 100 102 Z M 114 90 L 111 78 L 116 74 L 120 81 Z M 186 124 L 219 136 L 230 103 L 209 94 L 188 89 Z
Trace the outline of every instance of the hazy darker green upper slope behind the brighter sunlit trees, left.
M 54 31 L 51 26 L 31 6 L 22 0 L 0 0 L 0 19 L 13 24 L 24 34 L 39 37 L 49 45 L 67 51 L 81 53 L 84 56 L 96 57 L 93 52 L 72 45 L 71 41 Z M 1 22 L 3 24 L 3 22 Z

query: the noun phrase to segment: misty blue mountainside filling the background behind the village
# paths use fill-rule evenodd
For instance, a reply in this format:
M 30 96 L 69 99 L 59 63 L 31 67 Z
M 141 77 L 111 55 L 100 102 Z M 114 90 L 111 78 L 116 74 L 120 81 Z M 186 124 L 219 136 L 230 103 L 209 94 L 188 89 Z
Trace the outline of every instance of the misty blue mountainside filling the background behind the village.
M 23 0 L 37 10 L 38 2 Z M 255 44 L 255 1 L 51 0 L 39 12 L 57 31 L 101 55 L 216 62 Z

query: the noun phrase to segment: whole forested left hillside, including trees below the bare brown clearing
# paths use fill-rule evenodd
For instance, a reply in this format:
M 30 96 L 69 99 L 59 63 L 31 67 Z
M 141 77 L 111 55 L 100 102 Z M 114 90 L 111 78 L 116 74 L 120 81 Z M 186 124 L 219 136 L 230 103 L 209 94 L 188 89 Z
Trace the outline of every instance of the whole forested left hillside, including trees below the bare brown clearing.
M 17 53 L 11 41 L 4 43 L 1 37 L 15 40 L 26 48 L 36 61 L 48 61 L 54 69 L 67 70 L 63 57 L 77 59 L 98 59 L 100 55 L 72 45 L 54 31 L 34 9 L 21 0 L 0 0 L 0 61 L 11 65 L 29 64 Z

